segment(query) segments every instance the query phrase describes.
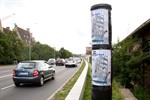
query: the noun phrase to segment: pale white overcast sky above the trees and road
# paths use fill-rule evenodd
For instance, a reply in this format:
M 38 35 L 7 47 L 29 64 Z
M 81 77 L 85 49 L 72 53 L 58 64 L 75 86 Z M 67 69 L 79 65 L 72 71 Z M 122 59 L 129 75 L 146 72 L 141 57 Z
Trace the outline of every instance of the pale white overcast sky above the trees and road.
M 85 54 L 91 46 L 90 9 L 101 3 L 112 7 L 113 44 L 150 18 L 150 0 L 0 0 L 0 18 L 3 27 L 30 28 L 36 41 L 56 50 Z

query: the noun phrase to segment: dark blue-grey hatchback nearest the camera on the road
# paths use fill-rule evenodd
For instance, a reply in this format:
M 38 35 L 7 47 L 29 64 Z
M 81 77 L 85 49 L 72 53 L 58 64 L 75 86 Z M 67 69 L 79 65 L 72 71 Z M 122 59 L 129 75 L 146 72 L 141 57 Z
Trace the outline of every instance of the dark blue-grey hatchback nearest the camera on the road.
M 16 86 L 20 83 L 36 83 L 40 86 L 48 79 L 54 79 L 55 69 L 43 60 L 19 62 L 13 70 L 13 81 Z

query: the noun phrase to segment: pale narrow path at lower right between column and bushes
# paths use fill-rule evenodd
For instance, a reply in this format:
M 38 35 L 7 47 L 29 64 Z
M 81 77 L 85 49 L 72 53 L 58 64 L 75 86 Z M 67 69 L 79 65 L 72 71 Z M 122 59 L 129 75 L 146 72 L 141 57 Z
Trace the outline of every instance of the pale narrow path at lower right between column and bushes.
M 121 94 L 123 95 L 124 100 L 138 100 L 127 88 L 121 88 Z

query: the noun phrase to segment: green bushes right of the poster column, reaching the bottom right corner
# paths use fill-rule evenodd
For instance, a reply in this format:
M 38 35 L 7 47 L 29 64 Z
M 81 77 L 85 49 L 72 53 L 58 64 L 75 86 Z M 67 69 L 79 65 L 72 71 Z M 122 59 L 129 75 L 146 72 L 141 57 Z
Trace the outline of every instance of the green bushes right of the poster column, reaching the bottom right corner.
M 145 64 L 150 61 L 148 45 L 142 40 L 128 38 L 113 45 L 113 77 L 125 88 L 129 88 L 138 100 L 150 100 L 144 88 Z

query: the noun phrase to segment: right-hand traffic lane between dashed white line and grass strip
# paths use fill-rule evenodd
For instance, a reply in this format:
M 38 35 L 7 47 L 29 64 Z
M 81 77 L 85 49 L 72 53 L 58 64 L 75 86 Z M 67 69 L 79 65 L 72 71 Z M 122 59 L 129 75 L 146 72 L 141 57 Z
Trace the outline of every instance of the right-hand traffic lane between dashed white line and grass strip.
M 59 68 L 56 68 L 55 80 L 45 82 L 42 87 L 28 84 L 1 89 L 0 100 L 47 100 L 79 69 L 79 67 L 65 68 L 64 66 L 60 68 L 62 70 L 59 71 L 57 71 Z

